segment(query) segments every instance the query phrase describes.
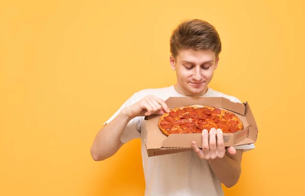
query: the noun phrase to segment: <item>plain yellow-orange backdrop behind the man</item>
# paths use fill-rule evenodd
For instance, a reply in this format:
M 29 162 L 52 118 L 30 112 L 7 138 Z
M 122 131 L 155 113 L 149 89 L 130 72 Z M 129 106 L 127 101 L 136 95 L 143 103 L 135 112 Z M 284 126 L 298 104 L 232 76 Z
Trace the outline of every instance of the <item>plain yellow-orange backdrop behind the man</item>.
M 172 85 L 185 19 L 222 39 L 210 87 L 248 101 L 259 135 L 226 195 L 305 195 L 304 1 L 0 4 L 0 195 L 143 195 L 140 141 L 95 162 L 93 139 L 129 96 Z

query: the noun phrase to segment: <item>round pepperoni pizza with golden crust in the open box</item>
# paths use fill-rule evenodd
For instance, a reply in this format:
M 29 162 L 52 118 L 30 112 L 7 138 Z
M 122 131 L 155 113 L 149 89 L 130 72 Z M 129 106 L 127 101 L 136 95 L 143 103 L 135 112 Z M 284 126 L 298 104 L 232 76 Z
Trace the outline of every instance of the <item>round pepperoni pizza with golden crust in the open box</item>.
M 170 134 L 197 134 L 203 129 L 220 128 L 223 133 L 235 133 L 243 129 L 241 120 L 227 110 L 192 105 L 171 109 L 160 116 L 159 128 L 166 136 Z

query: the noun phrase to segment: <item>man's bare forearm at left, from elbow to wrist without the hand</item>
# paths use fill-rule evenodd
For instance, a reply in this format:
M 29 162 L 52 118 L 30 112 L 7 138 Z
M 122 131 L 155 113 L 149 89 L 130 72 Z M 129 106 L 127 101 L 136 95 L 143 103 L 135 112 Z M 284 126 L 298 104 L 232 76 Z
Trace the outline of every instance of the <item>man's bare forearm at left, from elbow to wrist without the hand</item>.
M 94 160 L 104 160 L 115 154 L 120 147 L 120 137 L 130 120 L 126 111 L 122 110 L 99 131 L 90 150 Z

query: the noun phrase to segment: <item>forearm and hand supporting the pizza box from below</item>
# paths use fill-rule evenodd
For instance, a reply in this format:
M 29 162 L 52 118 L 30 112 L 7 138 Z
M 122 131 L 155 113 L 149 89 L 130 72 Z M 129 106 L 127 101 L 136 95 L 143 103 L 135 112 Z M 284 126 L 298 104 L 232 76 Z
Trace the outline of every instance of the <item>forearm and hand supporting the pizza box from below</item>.
M 200 159 L 207 160 L 211 170 L 226 187 L 232 187 L 238 182 L 241 173 L 242 150 L 229 147 L 226 152 L 221 129 L 216 131 L 215 128 L 211 128 L 209 133 L 204 129 L 202 131 L 202 150 L 198 148 L 195 141 L 192 142 L 192 148 Z

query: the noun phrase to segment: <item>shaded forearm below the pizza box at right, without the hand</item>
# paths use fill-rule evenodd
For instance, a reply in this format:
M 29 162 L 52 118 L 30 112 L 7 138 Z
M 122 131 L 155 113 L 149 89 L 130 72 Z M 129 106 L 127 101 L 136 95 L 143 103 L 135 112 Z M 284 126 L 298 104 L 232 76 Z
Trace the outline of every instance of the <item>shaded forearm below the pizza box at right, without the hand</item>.
M 236 152 L 236 155 L 242 153 Z M 234 160 L 232 155 L 226 153 L 223 158 L 209 159 L 208 164 L 216 177 L 226 186 L 234 186 L 240 177 L 241 167 L 240 164 Z

